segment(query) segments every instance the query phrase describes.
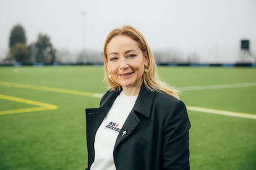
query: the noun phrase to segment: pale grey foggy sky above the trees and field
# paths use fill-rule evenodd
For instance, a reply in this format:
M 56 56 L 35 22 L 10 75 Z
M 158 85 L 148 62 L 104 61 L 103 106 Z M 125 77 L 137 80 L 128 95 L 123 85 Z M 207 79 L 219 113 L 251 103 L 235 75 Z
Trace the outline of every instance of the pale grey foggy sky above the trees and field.
M 256 55 L 255 0 L 0 0 L 0 59 L 11 29 L 20 24 L 27 44 L 48 34 L 57 50 L 103 51 L 109 31 L 132 25 L 153 51 L 196 54 L 200 62 L 237 62 L 241 39 Z

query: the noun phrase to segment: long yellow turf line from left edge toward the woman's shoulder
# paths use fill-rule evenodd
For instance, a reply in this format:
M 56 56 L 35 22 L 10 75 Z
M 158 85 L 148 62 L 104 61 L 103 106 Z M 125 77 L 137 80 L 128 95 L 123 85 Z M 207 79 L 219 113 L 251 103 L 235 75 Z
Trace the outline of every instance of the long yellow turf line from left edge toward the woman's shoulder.
M 92 92 L 73 91 L 73 90 L 68 90 L 68 89 L 59 89 L 59 88 L 46 87 L 46 86 L 35 86 L 35 85 L 30 85 L 30 84 L 9 83 L 9 82 L 5 82 L 5 81 L 0 81 L 0 86 L 35 89 L 35 90 L 40 90 L 40 91 L 59 92 L 59 93 L 64 93 L 64 94 L 85 95 L 85 96 L 89 96 L 89 97 L 101 96 L 101 94 L 95 94 Z

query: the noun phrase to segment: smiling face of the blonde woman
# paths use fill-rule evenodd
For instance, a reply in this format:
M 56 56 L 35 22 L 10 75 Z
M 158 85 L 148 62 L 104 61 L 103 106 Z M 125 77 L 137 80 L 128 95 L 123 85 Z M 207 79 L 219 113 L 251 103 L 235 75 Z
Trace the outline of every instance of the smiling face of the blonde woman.
M 106 55 L 109 74 L 122 89 L 140 88 L 148 57 L 138 42 L 129 36 L 115 36 L 106 46 Z

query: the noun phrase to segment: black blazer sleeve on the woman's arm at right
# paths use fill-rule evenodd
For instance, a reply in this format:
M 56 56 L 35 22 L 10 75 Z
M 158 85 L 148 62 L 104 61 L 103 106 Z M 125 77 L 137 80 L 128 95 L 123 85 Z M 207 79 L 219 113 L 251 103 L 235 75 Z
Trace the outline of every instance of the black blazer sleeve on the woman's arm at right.
M 189 129 L 186 106 L 176 102 L 164 123 L 163 169 L 189 169 Z

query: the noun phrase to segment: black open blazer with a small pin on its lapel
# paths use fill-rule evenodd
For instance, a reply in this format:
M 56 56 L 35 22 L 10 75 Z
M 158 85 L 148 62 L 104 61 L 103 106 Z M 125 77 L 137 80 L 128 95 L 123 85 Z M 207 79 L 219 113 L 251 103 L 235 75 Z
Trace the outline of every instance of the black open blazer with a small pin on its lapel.
M 119 93 L 108 91 L 99 108 L 86 109 L 88 169 L 94 161 L 96 131 Z M 164 92 L 151 92 L 142 84 L 116 139 L 116 169 L 189 169 L 189 129 L 186 106 L 181 100 Z

